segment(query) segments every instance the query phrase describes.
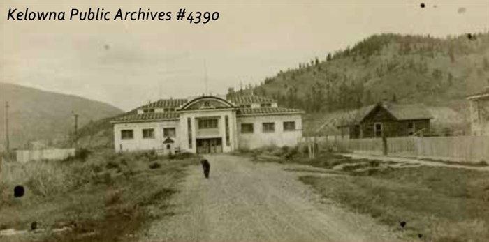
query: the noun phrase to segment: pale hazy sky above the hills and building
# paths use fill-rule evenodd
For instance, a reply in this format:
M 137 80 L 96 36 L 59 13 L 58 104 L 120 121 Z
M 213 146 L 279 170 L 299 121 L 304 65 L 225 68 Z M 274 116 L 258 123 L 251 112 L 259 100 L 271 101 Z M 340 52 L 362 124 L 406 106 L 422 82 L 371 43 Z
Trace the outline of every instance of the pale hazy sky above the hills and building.
M 425 3 L 425 8 L 421 8 Z M 170 21 L 7 21 L 8 9 L 171 11 Z M 207 24 L 180 8 L 218 11 Z M 4 1 L 0 82 L 101 100 L 124 110 L 149 100 L 226 93 L 353 45 L 374 33 L 488 31 L 489 1 Z

